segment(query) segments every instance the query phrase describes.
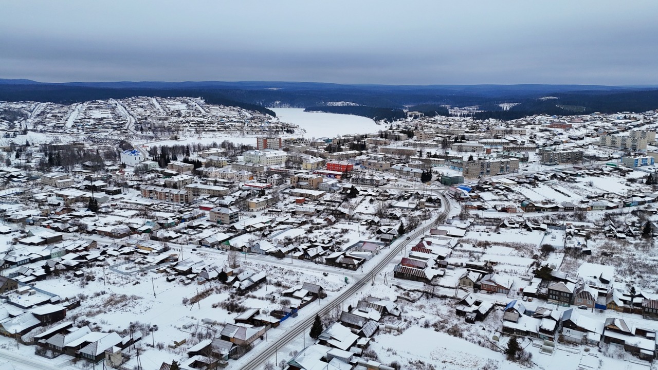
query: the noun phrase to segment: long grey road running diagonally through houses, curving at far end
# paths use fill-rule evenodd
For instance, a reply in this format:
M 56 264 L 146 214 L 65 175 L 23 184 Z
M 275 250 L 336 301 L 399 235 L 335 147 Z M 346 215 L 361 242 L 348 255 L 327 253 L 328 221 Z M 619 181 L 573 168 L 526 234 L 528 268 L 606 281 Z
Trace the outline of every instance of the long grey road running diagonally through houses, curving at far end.
M 442 219 L 443 216 L 447 217 L 448 213 L 450 212 L 451 206 L 448 201 L 448 199 L 445 197 L 445 195 L 442 192 L 438 192 L 440 196 L 442 197 L 442 207 L 443 211 L 440 217 L 437 219 Z M 432 221 L 430 225 L 421 225 L 416 228 L 416 230 L 412 233 L 409 234 L 409 236 L 405 239 L 402 240 L 392 248 L 391 250 L 388 251 L 388 254 L 386 257 L 382 258 L 379 263 L 368 273 L 366 273 L 361 279 L 357 280 L 354 284 L 349 286 L 345 292 L 340 294 L 339 296 L 334 297 L 332 300 L 329 300 L 326 304 L 324 304 L 322 307 L 320 307 L 316 313 L 320 316 L 325 315 L 326 313 L 330 312 L 330 310 L 335 309 L 336 307 L 340 307 L 341 303 L 345 300 L 347 300 L 350 296 L 353 294 L 356 294 L 361 287 L 363 287 L 367 282 L 372 280 L 373 277 L 375 277 L 388 263 L 390 263 L 393 258 L 395 258 L 395 255 L 399 253 L 403 248 L 405 248 L 409 243 L 413 242 L 415 238 L 418 238 L 418 236 L 422 236 L 424 234 L 424 226 L 434 226 L 436 225 L 436 220 Z M 309 315 L 307 318 L 302 319 L 292 327 L 284 336 L 281 338 L 278 338 L 277 340 L 274 340 L 273 342 L 269 343 L 269 346 L 265 348 L 261 353 L 257 354 L 253 358 L 249 359 L 246 363 L 244 363 L 240 368 L 244 370 L 256 370 L 258 369 L 267 359 L 270 357 L 274 356 L 274 352 L 276 352 L 279 348 L 282 348 L 286 346 L 289 342 L 291 342 L 295 337 L 297 337 L 299 334 L 303 333 L 304 330 L 308 329 L 311 327 L 311 323 L 313 323 L 313 320 L 315 320 L 315 315 Z M 257 350 L 255 348 L 254 350 Z

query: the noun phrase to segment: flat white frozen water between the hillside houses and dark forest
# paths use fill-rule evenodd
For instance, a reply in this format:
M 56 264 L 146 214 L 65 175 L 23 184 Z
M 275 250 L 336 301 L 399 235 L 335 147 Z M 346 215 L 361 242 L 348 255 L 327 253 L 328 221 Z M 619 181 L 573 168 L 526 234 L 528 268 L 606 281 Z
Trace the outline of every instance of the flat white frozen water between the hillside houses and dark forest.
M 296 124 L 306 130 L 305 138 L 334 138 L 345 134 L 368 134 L 385 130 L 366 117 L 336 115 L 334 113 L 311 113 L 301 108 L 270 108 L 281 122 Z

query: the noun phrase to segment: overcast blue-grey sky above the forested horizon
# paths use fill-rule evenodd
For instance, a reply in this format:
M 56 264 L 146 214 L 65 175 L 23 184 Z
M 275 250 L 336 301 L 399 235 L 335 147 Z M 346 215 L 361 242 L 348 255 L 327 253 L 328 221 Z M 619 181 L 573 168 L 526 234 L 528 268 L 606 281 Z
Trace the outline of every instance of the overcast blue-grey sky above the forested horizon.
M 3 1 L 0 78 L 658 84 L 658 1 Z

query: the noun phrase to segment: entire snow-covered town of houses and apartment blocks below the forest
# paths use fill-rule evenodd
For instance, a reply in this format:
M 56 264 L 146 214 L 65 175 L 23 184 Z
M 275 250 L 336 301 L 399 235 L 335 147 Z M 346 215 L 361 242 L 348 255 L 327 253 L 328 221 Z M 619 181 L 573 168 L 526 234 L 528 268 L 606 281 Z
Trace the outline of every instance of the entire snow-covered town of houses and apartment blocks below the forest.
M 201 98 L 0 102 L 0 351 L 654 369 L 658 111 L 449 108 L 320 138 Z

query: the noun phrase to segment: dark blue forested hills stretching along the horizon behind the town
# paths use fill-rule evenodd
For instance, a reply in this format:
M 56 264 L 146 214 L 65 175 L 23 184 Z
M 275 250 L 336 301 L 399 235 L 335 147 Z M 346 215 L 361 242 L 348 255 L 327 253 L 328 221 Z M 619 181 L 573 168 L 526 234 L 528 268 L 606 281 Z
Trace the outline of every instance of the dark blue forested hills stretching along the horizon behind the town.
M 49 84 L 0 79 L 0 100 L 75 103 L 131 96 L 203 97 L 209 103 L 253 109 L 310 108 L 374 119 L 401 117 L 401 110 L 448 115 L 442 105 L 478 107 L 476 119 L 526 115 L 644 112 L 658 109 L 658 87 L 578 85 L 341 85 L 316 82 L 70 82 Z M 554 97 L 555 99 L 544 99 Z M 334 107 L 332 102 L 361 107 Z

